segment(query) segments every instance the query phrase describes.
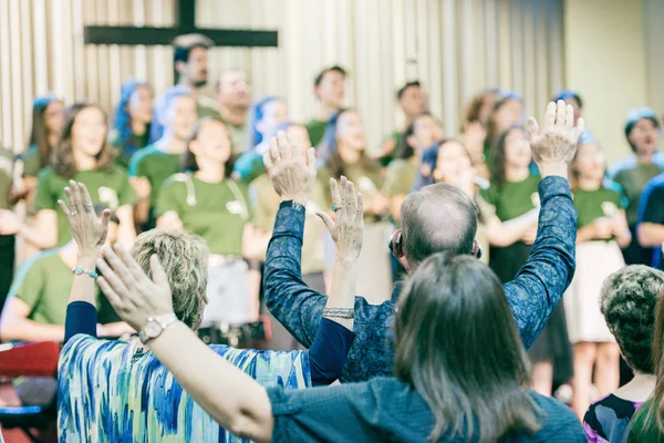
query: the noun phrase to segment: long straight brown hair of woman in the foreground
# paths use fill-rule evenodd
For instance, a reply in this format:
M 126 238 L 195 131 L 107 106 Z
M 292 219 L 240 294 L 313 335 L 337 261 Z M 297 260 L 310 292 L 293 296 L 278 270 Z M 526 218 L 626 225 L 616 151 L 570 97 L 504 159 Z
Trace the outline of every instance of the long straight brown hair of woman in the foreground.
M 395 332 L 395 375 L 430 408 L 430 440 L 497 441 L 510 430 L 539 427 L 505 291 L 481 261 L 452 254 L 426 259 L 400 298 Z

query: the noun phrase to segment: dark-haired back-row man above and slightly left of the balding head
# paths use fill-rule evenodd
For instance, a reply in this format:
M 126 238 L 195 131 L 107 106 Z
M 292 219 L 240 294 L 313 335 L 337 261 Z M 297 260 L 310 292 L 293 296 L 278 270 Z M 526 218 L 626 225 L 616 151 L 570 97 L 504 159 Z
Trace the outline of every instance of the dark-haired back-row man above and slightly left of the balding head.
M 396 102 L 404 114 L 404 124 L 401 130 L 393 131 L 381 145 L 377 159 L 383 167 L 387 167 L 395 158 L 395 150 L 401 144 L 402 134 L 406 132 L 413 121 L 418 115 L 425 113 L 428 107 L 426 94 L 417 80 L 407 82 L 396 92 Z

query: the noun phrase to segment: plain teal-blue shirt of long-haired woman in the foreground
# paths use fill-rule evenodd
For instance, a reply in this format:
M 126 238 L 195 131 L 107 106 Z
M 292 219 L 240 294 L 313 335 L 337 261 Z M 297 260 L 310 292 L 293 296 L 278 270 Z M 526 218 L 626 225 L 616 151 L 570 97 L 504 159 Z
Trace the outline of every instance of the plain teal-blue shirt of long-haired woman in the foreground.
M 426 442 L 434 418 L 422 396 L 397 379 L 284 390 L 268 388 L 274 429 L 272 442 Z M 574 413 L 558 402 L 529 392 L 539 406 L 540 430 L 513 430 L 505 442 L 585 442 Z M 477 430 L 477 427 L 476 427 Z M 477 442 L 477 433 L 473 442 Z M 443 442 L 467 442 L 444 435 Z

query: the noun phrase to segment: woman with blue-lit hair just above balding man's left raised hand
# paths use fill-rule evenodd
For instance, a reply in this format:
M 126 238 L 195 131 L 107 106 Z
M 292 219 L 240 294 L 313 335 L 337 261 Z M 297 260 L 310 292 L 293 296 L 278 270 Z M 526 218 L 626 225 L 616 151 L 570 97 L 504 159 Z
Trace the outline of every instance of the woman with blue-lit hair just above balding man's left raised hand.
M 234 177 L 251 183 L 266 173 L 262 156 L 270 148 L 270 136 L 277 134 L 277 127 L 288 121 L 286 100 L 269 95 L 253 103 L 249 113 L 249 145 L 234 165 Z M 307 145 L 310 145 L 307 142 Z

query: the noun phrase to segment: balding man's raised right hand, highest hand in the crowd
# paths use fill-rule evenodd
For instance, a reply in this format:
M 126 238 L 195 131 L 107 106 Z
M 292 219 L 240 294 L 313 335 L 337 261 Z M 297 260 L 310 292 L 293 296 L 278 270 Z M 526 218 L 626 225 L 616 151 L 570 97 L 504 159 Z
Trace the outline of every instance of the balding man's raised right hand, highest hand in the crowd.
M 541 130 L 533 117 L 528 119 L 532 157 L 542 178 L 549 175 L 568 177 L 569 164 L 574 158 L 584 127 L 583 119 L 579 119 L 574 127 L 574 109 L 562 100 L 549 103 Z

